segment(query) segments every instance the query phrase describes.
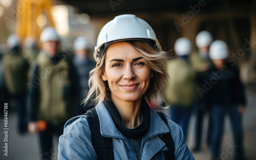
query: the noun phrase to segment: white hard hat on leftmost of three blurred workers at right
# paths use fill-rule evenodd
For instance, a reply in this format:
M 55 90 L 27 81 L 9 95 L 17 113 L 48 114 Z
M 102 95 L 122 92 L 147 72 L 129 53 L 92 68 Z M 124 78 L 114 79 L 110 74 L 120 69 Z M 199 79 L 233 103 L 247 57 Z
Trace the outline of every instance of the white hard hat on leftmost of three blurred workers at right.
M 191 42 L 187 38 L 179 38 L 175 41 L 174 51 L 179 56 L 189 55 L 191 52 Z

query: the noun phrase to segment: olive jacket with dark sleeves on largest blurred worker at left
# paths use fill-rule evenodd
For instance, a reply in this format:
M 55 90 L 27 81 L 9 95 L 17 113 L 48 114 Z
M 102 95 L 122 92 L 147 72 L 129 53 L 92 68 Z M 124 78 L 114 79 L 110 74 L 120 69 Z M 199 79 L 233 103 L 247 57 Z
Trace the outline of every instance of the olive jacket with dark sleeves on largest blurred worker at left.
M 64 55 L 60 57 L 53 60 L 43 51 L 38 54 L 29 100 L 32 121 L 45 120 L 52 125 L 59 125 L 72 116 L 69 64 L 63 58 Z

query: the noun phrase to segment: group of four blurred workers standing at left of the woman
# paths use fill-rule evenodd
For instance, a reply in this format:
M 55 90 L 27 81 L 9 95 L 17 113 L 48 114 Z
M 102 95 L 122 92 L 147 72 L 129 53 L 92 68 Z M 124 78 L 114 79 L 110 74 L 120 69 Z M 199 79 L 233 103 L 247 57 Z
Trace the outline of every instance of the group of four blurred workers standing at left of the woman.
M 15 105 L 20 134 L 39 135 L 41 159 L 54 156 L 53 137 L 63 134 L 65 122 L 90 107 L 81 103 L 89 72 L 96 66 L 89 59 L 89 41 L 77 37 L 70 57 L 60 50 L 60 41 L 49 27 L 41 33 L 41 49 L 33 38 L 26 38 L 22 49 L 12 34 L 7 40 L 8 52 L 1 54 L 1 102 L 10 99 Z

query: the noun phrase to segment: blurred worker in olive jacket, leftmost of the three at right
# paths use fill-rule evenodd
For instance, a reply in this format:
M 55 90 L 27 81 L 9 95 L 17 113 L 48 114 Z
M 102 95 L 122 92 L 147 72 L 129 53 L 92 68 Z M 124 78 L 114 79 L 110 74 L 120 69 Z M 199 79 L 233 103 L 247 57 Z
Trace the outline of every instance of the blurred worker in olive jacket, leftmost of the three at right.
M 192 105 L 196 96 L 195 71 L 189 63 L 191 42 L 179 38 L 174 45 L 176 58 L 167 63 L 169 84 L 165 87 L 166 101 L 171 104 L 170 118 L 179 124 L 187 137 Z

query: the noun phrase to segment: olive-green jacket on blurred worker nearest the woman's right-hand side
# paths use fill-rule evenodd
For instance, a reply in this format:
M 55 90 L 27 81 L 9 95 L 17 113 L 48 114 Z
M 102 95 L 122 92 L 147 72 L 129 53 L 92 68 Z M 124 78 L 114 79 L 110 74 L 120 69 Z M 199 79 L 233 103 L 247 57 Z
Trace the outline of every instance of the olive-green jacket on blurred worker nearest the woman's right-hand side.
M 165 99 L 170 104 L 190 106 L 196 97 L 195 72 L 190 64 L 175 58 L 167 63 L 169 82 L 165 85 Z

